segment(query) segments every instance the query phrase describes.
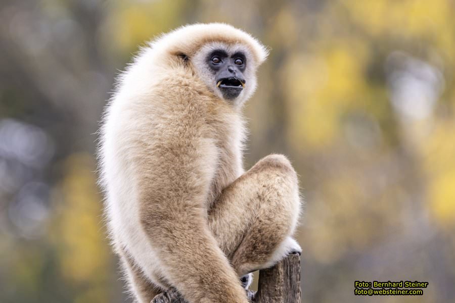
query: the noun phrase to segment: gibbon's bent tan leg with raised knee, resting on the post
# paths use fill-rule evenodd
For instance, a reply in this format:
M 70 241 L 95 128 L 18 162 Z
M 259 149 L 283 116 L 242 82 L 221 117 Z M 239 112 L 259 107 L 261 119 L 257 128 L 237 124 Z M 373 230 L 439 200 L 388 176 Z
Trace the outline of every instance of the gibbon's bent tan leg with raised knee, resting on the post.
M 301 251 L 291 238 L 299 212 L 294 169 L 285 156 L 270 155 L 223 190 L 208 221 L 221 250 L 242 276 Z

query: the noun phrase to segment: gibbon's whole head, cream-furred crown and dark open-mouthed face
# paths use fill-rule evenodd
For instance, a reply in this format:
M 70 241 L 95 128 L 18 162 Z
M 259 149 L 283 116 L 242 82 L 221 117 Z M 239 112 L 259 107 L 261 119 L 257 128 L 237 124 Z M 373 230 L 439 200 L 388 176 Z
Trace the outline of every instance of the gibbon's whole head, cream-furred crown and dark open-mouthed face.
M 180 27 L 151 46 L 163 47 L 169 59 L 183 62 L 210 91 L 235 106 L 253 94 L 256 70 L 268 54 L 251 35 L 222 23 Z

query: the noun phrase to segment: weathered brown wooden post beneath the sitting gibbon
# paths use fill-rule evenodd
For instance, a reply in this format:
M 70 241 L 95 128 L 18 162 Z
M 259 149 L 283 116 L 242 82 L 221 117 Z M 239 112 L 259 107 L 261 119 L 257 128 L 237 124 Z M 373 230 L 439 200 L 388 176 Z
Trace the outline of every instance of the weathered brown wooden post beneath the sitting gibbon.
M 247 290 L 254 303 L 300 303 L 300 256 L 292 254 L 274 267 L 259 271 L 258 291 Z M 171 290 L 157 295 L 151 303 L 188 303 Z

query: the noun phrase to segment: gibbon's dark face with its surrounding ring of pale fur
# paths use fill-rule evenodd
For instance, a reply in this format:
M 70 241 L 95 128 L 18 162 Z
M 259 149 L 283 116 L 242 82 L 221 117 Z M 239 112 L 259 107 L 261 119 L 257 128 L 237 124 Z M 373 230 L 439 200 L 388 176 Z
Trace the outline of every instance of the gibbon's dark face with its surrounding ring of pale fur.
M 211 91 L 237 106 L 256 89 L 255 65 L 245 45 L 211 42 L 195 55 L 193 66 Z

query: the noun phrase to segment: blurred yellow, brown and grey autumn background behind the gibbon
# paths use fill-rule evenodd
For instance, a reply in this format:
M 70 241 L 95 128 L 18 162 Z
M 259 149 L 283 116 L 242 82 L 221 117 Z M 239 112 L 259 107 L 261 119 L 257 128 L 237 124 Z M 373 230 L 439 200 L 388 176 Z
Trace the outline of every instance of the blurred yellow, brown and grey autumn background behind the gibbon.
M 455 1 L 3 0 L 0 302 L 131 302 L 102 222 L 98 122 L 139 45 L 220 21 L 270 46 L 246 167 L 290 157 L 303 302 L 455 301 Z M 428 281 L 419 297 L 354 280 Z

